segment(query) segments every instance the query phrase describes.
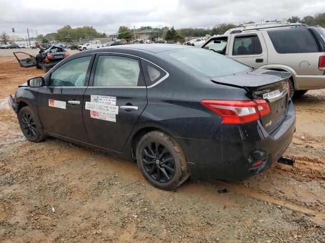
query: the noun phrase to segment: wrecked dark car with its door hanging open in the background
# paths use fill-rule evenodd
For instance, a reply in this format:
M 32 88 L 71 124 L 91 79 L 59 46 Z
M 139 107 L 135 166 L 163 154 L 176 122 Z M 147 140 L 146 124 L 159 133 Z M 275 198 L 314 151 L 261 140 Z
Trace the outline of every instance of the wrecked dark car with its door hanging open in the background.
M 55 46 L 48 49 L 40 48 L 40 52 L 36 57 L 24 52 L 14 52 L 14 55 L 21 67 L 36 66 L 37 68 L 43 68 L 45 72 L 49 71 L 64 58 L 70 56 L 69 52 L 64 50 L 62 47 Z

